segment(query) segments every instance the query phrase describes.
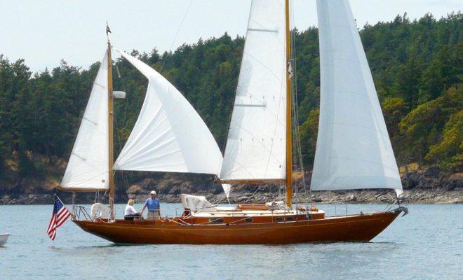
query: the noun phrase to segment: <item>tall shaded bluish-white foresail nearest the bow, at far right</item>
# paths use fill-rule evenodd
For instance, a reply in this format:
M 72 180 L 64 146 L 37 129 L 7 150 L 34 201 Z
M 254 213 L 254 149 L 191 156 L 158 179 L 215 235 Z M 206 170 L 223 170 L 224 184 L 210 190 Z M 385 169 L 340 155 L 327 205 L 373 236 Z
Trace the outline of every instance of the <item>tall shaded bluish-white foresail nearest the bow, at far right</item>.
M 401 179 L 347 0 L 318 0 L 321 99 L 311 190 L 392 188 Z

